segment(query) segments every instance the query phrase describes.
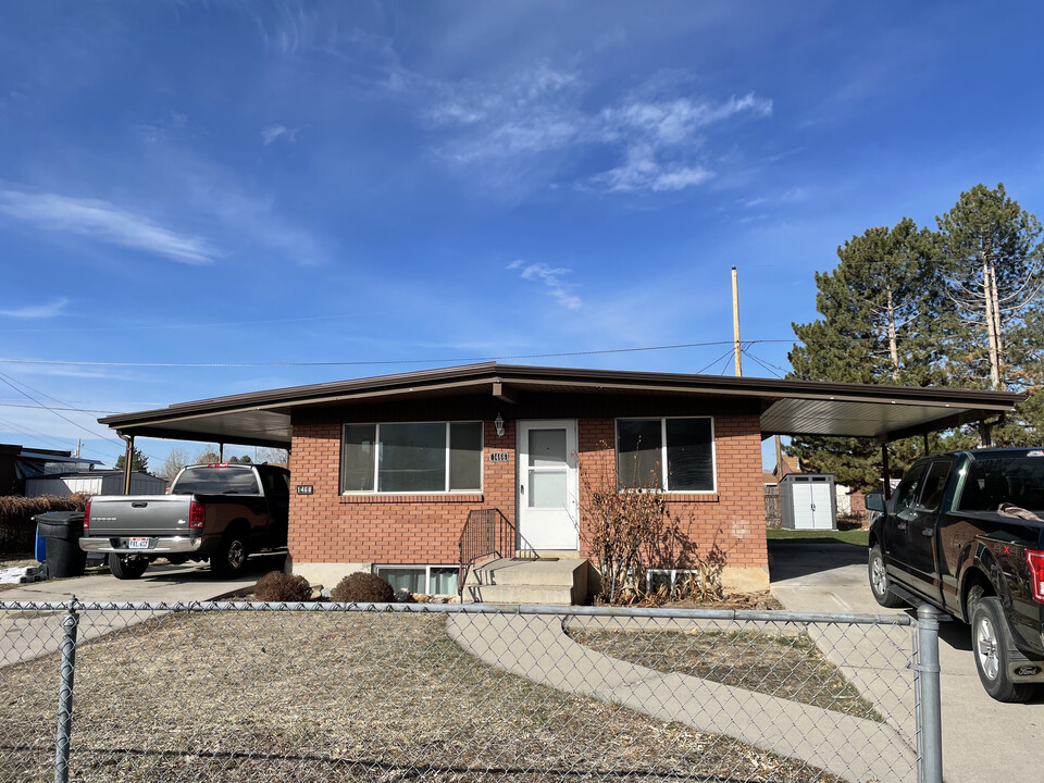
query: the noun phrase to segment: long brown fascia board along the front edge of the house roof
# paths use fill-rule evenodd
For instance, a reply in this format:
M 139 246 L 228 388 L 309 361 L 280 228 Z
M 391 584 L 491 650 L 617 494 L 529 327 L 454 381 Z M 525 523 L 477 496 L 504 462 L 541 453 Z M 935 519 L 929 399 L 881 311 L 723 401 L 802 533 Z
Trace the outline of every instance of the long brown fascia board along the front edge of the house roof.
M 980 389 L 933 389 L 818 381 L 732 377 L 728 375 L 577 370 L 485 362 L 352 381 L 291 386 L 228 397 L 214 397 L 194 402 L 179 402 L 157 410 L 120 413 L 98 421 L 110 427 L 130 426 L 154 421 L 192 418 L 207 413 L 296 408 L 361 397 L 386 396 L 422 389 L 462 388 L 495 382 L 505 384 L 507 388 L 510 388 L 511 382 L 524 382 L 548 387 L 586 386 L 604 390 L 718 394 L 735 397 L 759 397 L 766 400 L 792 397 L 862 402 L 887 400 L 896 403 L 940 407 L 956 405 L 996 411 L 1010 410 L 1016 402 L 1026 399 L 1026 395 L 1011 391 Z

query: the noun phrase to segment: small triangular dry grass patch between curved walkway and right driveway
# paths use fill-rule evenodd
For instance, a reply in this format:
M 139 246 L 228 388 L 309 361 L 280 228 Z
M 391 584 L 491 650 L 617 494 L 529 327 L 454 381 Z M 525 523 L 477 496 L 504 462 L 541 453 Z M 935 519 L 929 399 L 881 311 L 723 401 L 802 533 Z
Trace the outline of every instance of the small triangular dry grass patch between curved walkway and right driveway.
M 787 631 L 788 633 L 784 633 Z M 570 630 L 580 644 L 598 652 L 661 672 L 689 674 L 747 691 L 881 722 L 873 705 L 859 695 L 806 633 L 793 627 L 759 633 L 688 631 Z

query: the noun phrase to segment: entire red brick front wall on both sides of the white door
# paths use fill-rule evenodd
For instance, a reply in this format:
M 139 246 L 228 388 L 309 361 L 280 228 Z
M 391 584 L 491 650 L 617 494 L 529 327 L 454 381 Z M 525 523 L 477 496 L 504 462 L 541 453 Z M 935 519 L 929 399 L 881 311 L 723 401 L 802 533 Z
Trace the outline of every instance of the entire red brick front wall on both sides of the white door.
M 311 484 L 312 495 L 290 496 L 290 555 L 295 562 L 455 563 L 468 512 L 499 509 L 515 518 L 515 426 L 497 437 L 484 426 L 482 495 L 341 496 L 340 422 L 295 424 L 293 483 Z M 612 419 L 579 423 L 581 508 L 585 484 L 597 486 L 614 470 Z M 716 544 L 734 568 L 766 568 L 761 435 L 756 415 L 714 417 L 718 492 L 671 496 L 673 512 L 691 520 L 698 552 Z M 490 462 L 490 451 L 507 451 Z M 582 538 L 582 548 L 583 539 Z M 583 554 L 583 550 L 582 550 Z

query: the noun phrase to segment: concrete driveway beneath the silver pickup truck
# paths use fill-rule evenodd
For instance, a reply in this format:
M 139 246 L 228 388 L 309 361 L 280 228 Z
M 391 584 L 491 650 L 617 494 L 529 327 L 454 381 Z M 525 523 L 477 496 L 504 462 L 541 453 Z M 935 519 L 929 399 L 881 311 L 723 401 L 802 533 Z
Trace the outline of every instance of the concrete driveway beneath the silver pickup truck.
M 249 591 L 258 577 L 271 570 L 271 558 L 250 560 L 249 571 L 231 580 L 215 580 L 209 566 L 151 566 L 137 580 L 117 580 L 111 574 L 77 579 L 46 580 L 0 591 L 0 602 L 64 602 L 74 595 L 80 601 L 189 602 L 209 601 Z M 0 611 L 0 667 L 33 660 L 61 649 L 65 611 Z M 80 642 L 136 625 L 154 612 L 85 612 L 79 621 Z

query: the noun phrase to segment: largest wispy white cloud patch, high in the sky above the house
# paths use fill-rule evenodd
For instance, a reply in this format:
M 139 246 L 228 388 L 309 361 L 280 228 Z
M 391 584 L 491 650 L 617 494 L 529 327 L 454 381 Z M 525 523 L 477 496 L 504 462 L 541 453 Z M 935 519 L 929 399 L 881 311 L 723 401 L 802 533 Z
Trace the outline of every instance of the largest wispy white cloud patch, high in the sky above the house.
M 608 104 L 591 105 L 580 73 L 542 64 L 505 83 L 425 80 L 398 73 L 395 89 L 424 96 L 425 124 L 440 135 L 438 152 L 459 164 L 518 160 L 568 148 L 619 156 L 620 162 L 581 176 L 579 185 L 609 192 L 663 192 L 716 175 L 704 147 L 710 129 L 732 119 L 772 115 L 772 101 L 753 92 L 711 100 L 693 95 L 686 78 L 652 78 Z

